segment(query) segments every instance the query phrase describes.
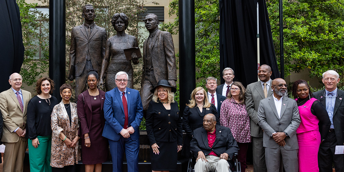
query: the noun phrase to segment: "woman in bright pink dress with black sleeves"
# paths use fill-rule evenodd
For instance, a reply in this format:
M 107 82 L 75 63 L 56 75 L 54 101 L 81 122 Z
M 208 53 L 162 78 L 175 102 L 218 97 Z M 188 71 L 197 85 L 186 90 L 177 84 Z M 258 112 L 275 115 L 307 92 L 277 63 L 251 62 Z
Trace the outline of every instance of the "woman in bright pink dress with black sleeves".
M 313 98 L 313 93 L 305 80 L 294 82 L 292 94 L 298 104 L 301 119 L 296 130 L 299 143 L 299 172 L 319 172 L 318 151 L 330 129 L 329 115 L 320 101 Z

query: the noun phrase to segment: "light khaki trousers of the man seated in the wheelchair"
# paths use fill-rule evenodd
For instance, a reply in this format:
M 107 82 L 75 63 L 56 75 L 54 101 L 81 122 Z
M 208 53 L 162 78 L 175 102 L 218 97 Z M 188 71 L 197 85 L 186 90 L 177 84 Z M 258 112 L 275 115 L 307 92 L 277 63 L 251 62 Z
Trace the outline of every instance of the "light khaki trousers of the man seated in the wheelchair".
M 195 172 L 232 172 L 229 169 L 229 164 L 226 160 L 220 159 L 214 155 L 206 155 L 205 158 L 208 162 L 202 161 L 202 159 L 198 159 L 195 164 Z

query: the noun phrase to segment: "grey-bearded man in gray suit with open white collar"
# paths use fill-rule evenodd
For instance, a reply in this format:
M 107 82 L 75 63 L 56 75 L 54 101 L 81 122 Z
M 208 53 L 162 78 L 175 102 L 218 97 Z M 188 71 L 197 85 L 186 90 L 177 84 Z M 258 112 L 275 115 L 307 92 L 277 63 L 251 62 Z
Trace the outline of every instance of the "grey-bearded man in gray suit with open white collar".
M 273 95 L 263 99 L 258 107 L 258 124 L 264 130 L 263 146 L 268 172 L 280 169 L 280 160 L 286 172 L 298 171 L 298 140 L 296 129 L 300 115 L 295 100 L 287 97 L 287 83 L 282 78 L 272 80 Z

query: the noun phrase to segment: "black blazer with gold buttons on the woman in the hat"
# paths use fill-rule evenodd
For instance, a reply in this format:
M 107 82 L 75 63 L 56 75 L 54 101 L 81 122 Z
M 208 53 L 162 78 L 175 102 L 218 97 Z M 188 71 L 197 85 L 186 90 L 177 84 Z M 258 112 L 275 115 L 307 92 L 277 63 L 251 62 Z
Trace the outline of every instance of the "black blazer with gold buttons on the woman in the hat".
M 171 111 L 159 102 L 150 101 L 147 109 L 146 130 L 150 144 L 157 141 L 174 142 L 183 145 L 182 120 L 178 103 L 171 103 Z

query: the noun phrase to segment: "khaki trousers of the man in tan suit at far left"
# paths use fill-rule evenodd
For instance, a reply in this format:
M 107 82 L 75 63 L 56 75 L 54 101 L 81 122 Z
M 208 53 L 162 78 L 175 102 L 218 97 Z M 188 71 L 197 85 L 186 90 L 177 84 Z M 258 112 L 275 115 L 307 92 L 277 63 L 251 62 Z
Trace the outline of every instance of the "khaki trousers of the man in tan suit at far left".
M 18 142 L 6 143 L 3 154 L 3 172 L 23 172 L 23 163 L 28 140 L 19 138 Z

